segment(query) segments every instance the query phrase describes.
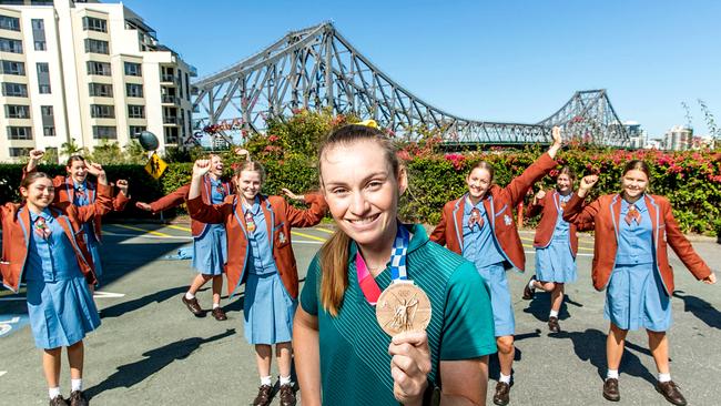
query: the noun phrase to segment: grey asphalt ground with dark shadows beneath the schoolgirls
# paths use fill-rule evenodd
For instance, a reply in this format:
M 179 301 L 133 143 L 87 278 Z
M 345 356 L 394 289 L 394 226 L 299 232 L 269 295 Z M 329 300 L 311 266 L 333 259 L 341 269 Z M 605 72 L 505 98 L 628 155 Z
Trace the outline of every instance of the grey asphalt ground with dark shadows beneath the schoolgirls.
M 296 230 L 293 247 L 301 277 L 331 226 Z M 520 298 L 534 271 L 532 233 L 521 232 L 527 275 L 510 272 L 516 312 L 517 355 L 511 405 L 605 405 L 606 374 L 603 294 L 590 281 L 592 240 L 581 236 L 579 278 L 567 286 L 560 314 L 562 332 L 549 334 L 548 295 Z M 85 338 L 85 393 L 94 405 L 227 405 L 251 404 L 258 385 L 254 349 L 243 338 L 243 295 L 223 306 L 229 319 L 210 314 L 194 317 L 181 295 L 195 275 L 189 260 L 169 260 L 190 244 L 187 225 L 109 224 L 102 250 L 105 275 L 97 292 L 102 325 Z M 719 270 L 721 245 L 693 243 Z M 690 405 L 721 404 L 721 295 L 719 286 L 697 282 L 671 254 L 677 292 L 669 333 L 671 373 Z M 719 275 L 721 276 L 721 275 Z M 225 291 L 224 291 L 225 292 Z M 210 284 L 197 295 L 211 304 Z M 275 362 L 274 376 L 277 375 Z M 668 405 L 653 389 L 656 366 L 646 333 L 631 332 L 620 368 L 619 405 Z M 488 404 L 497 362 L 491 359 Z M 277 388 L 277 386 L 276 386 Z M 63 359 L 61 389 L 68 396 L 70 376 Z M 0 404 L 45 405 L 41 351 L 34 347 L 22 293 L 0 291 Z M 277 397 L 273 400 L 278 404 Z

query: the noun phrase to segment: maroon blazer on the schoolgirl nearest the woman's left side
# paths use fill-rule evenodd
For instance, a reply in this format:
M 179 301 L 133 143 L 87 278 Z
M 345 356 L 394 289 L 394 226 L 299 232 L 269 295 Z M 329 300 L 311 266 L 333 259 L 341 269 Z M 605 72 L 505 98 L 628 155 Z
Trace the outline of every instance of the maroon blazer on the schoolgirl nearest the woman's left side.
M 283 286 L 293 300 L 298 297 L 298 270 L 291 246 L 291 227 L 309 227 L 323 220 L 328 206 L 318 193 L 305 194 L 311 209 L 299 210 L 290 205 L 281 196 L 261 195 L 261 209 L 265 215 L 265 226 L 273 250 L 273 258 L 278 268 Z M 222 204 L 206 204 L 200 196 L 187 201 L 187 210 L 193 220 L 203 223 L 224 223 L 227 235 L 227 278 L 229 295 L 245 282 L 247 262 L 247 226 L 236 195 L 225 197 Z

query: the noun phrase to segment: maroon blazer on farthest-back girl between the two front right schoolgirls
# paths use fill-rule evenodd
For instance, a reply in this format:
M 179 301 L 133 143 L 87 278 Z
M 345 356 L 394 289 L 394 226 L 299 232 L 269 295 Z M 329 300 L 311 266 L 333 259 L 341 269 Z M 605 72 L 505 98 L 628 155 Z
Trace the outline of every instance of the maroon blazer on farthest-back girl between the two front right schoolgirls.
M 526 216 L 528 219 L 537 216 L 542 212 L 541 220 L 536 227 L 536 237 L 534 238 L 534 246 L 536 248 L 545 248 L 551 243 L 554 237 L 554 230 L 556 230 L 556 221 L 558 220 L 558 210 L 560 209 L 560 193 L 556 189 L 546 192 L 546 196 L 539 200 L 536 204 L 529 204 L 526 209 Z M 571 242 L 571 253 L 573 257 L 578 253 L 578 231 L 592 230 L 592 223 L 575 224 L 569 226 L 569 237 Z

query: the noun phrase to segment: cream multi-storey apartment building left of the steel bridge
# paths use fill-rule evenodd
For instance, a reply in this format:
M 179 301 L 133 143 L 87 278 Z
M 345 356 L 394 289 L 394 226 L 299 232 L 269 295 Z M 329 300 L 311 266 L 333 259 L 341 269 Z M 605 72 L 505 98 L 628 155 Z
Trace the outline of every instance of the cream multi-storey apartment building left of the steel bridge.
M 195 68 L 122 3 L 0 0 L 0 162 L 32 148 L 92 150 L 191 131 Z

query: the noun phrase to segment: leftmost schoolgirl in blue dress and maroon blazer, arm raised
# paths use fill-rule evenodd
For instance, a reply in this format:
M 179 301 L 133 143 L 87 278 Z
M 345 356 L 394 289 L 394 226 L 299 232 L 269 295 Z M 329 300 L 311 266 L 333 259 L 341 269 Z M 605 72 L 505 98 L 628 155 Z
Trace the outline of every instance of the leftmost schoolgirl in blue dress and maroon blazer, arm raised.
M 61 349 L 70 363 L 70 405 L 88 405 L 82 392 L 83 337 L 100 326 L 89 285 L 95 274 L 83 238 L 83 224 L 112 210 L 110 186 L 100 165 L 98 199 L 82 207 L 52 203 L 54 186 L 42 172 L 28 174 L 20 184 L 24 204 L 0 209 L 3 284 L 17 292 L 27 283 L 27 303 L 35 346 L 43 349 L 42 365 L 50 405 L 68 405 L 60 395 Z

